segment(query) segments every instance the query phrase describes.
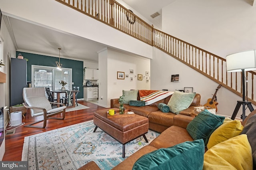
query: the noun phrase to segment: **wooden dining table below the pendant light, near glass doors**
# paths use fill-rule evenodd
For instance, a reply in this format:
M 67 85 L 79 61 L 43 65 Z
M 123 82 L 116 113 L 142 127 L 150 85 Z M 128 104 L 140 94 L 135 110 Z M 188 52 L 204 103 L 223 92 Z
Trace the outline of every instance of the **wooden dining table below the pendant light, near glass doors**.
M 54 93 L 57 94 L 57 103 L 60 103 L 60 93 L 65 93 L 65 96 L 68 97 L 68 106 L 67 108 L 76 107 L 76 92 L 79 90 L 50 90 L 52 92 L 52 96 L 54 96 Z M 70 96 L 73 93 L 73 103 L 71 103 Z M 57 105 L 57 107 L 60 107 L 60 105 Z

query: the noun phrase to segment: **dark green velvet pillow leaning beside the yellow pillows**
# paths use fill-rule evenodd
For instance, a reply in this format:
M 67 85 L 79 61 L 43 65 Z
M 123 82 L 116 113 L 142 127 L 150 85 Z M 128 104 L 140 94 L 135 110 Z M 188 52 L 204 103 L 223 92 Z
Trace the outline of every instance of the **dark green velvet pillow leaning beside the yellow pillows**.
M 225 117 L 213 115 L 207 109 L 200 112 L 187 126 L 187 131 L 194 140 L 203 139 L 205 146 L 212 132 L 222 125 Z

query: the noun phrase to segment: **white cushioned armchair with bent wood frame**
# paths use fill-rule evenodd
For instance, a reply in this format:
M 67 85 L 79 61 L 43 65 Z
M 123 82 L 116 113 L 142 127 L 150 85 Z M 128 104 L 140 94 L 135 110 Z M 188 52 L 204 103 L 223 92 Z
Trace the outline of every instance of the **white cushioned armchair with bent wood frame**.
M 24 127 L 35 127 L 35 128 L 45 128 L 47 119 L 64 119 L 66 113 L 66 106 L 64 103 L 54 103 L 48 101 L 45 96 L 44 87 L 38 88 L 24 88 L 23 89 L 23 99 L 25 103 L 23 105 L 30 109 L 31 116 L 41 116 L 43 115 L 44 119 L 31 123 L 30 125 L 25 125 Z M 62 106 L 52 109 L 51 104 L 60 104 Z M 55 115 L 61 114 L 62 117 L 53 117 Z M 43 126 L 35 126 L 34 124 L 44 121 Z

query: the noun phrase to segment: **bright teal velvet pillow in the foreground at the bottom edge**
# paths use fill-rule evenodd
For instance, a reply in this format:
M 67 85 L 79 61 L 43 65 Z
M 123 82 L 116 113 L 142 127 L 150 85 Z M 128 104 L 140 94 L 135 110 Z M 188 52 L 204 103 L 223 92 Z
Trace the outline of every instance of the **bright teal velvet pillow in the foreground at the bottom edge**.
M 202 139 L 161 148 L 140 157 L 132 170 L 200 170 L 204 163 Z

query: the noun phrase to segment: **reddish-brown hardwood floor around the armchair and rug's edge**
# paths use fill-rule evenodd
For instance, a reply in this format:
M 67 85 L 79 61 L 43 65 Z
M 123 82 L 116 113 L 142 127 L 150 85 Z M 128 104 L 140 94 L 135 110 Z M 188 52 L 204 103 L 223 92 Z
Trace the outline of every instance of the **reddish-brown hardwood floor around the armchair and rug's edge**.
M 25 136 L 30 136 L 33 134 L 38 134 L 41 132 L 46 132 L 49 130 L 53 130 L 56 128 L 66 127 L 69 125 L 74 125 L 77 123 L 82 123 L 86 121 L 90 121 L 93 119 L 93 113 L 97 110 L 106 109 L 105 107 L 100 107 L 93 103 L 89 103 L 86 101 L 78 101 L 78 103 L 90 107 L 88 109 L 78 110 L 78 111 L 71 111 L 66 113 L 66 117 L 64 120 L 54 120 L 48 119 L 46 128 L 30 128 L 30 127 L 18 127 L 15 130 L 14 134 L 9 134 L 5 136 L 5 154 L 3 157 L 3 161 L 20 161 L 22 156 L 22 148 Z M 30 123 L 36 120 L 42 119 L 40 117 L 31 117 L 30 113 L 27 112 L 25 118 L 22 117 L 22 122 Z M 42 123 L 40 123 L 42 124 Z M 38 124 L 38 125 L 40 125 Z M 7 126 L 8 128 L 8 126 Z

